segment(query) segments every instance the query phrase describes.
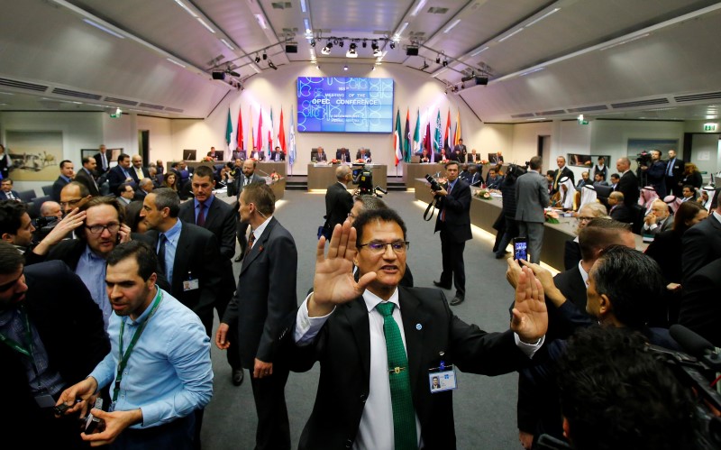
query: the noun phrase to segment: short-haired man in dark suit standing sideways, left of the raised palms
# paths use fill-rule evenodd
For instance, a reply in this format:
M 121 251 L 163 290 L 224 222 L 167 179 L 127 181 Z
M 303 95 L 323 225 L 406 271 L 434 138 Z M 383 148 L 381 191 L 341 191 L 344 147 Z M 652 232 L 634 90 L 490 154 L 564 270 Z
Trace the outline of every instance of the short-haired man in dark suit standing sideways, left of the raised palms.
M 228 330 L 238 330 L 241 362 L 251 371 L 251 387 L 258 414 L 255 448 L 290 449 L 285 387 L 287 361 L 279 355 L 279 341 L 297 310 L 297 249 L 293 236 L 273 217 L 276 197 L 266 184 L 251 184 L 240 199 L 242 221 L 252 228 L 242 262 L 238 289 L 225 309 L 215 344 L 228 349 Z

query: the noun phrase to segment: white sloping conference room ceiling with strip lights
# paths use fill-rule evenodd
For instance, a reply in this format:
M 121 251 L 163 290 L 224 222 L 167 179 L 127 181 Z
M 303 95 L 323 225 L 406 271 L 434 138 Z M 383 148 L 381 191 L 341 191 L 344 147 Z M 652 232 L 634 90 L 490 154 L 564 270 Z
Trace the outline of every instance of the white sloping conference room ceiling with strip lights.
M 579 114 L 707 120 L 718 117 L 721 105 L 721 3 L 708 0 L 0 5 L 0 111 L 120 106 L 160 117 L 205 117 L 236 88 L 213 80 L 214 69 L 230 69 L 234 80 L 244 81 L 272 70 L 271 61 L 282 70 L 314 60 L 423 71 L 485 122 Z M 324 55 L 329 40 L 333 48 Z M 297 53 L 287 52 L 291 41 Z M 373 56 L 374 41 L 380 59 Z M 356 59 L 346 58 L 351 42 Z M 417 56 L 407 54 L 409 46 L 418 47 Z M 476 76 L 488 77 L 488 86 Z

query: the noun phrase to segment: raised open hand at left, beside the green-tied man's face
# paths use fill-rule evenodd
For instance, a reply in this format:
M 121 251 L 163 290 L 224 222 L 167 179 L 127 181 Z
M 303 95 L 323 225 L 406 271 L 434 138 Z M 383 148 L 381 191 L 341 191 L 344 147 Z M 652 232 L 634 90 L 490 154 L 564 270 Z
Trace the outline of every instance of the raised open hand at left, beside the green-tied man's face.
M 335 225 L 333 235 L 325 254 L 325 238 L 318 240 L 315 253 L 315 278 L 313 296 L 308 300 L 310 317 L 325 316 L 338 304 L 358 298 L 370 281 L 375 280 L 375 272 L 366 273 L 356 283 L 353 279 L 353 257 L 357 253 L 356 232 L 346 220 L 343 225 Z

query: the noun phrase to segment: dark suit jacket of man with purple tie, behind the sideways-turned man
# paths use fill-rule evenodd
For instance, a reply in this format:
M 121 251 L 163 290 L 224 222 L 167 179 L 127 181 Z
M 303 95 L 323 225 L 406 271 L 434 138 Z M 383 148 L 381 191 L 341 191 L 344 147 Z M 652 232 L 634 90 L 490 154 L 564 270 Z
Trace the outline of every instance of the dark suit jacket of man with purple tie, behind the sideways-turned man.
M 235 291 L 233 262 L 235 255 L 235 216 L 237 211 L 218 197 L 215 197 L 205 214 L 203 227 L 215 235 L 220 243 L 221 265 L 223 267 L 223 288 L 218 300 L 221 304 L 230 300 Z M 178 218 L 183 224 L 196 223 L 195 200 L 180 205 Z

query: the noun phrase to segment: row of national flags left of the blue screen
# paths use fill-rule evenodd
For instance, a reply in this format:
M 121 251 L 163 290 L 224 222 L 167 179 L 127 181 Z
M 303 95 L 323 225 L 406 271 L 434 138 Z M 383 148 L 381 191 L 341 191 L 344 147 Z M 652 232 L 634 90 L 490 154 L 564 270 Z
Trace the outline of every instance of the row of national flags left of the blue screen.
M 254 126 L 252 107 L 248 108 L 248 136 L 250 144 L 246 145 L 242 126 L 242 107 L 238 109 L 238 122 L 233 128 L 233 116 L 231 109 L 228 108 L 228 121 L 225 125 L 225 142 L 228 147 L 225 149 L 225 157 L 227 161 L 232 159 L 233 152 L 246 152 L 250 158 L 254 149 L 265 152 L 266 158 L 270 157 L 270 152 L 280 147 L 281 151 L 287 155 L 290 165 L 296 161 L 296 125 L 293 121 L 293 108 L 290 109 L 290 133 L 286 141 L 286 127 L 284 125 L 283 108 L 280 108 L 280 124 L 276 128 L 273 124 L 273 109 L 270 108 L 269 115 L 265 115 L 266 123 L 263 125 L 263 116 L 265 113 L 262 108 L 258 111 L 258 127 Z M 256 134 L 257 133 L 257 134 Z M 257 136 L 257 137 L 256 137 Z

